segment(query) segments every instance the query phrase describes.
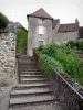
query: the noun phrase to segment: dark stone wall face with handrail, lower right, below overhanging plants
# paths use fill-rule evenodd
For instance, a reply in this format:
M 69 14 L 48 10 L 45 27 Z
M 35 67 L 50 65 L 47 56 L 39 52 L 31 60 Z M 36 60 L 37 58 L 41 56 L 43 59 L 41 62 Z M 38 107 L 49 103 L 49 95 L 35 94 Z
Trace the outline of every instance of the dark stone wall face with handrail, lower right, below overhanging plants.
M 74 88 L 73 81 L 70 82 L 59 72 L 52 73 L 51 87 L 62 103 L 62 110 L 83 110 L 80 105 L 83 97 Z

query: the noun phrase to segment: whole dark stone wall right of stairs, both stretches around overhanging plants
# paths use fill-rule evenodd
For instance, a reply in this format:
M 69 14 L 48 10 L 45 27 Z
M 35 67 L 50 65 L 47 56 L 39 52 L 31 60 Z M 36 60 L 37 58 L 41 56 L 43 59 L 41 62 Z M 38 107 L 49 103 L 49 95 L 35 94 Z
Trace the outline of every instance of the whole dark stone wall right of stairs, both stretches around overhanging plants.
M 38 66 L 40 56 L 33 50 L 33 57 Z M 74 81 L 66 73 L 53 70 L 50 78 L 51 88 L 60 100 L 62 110 L 83 110 L 83 88 Z

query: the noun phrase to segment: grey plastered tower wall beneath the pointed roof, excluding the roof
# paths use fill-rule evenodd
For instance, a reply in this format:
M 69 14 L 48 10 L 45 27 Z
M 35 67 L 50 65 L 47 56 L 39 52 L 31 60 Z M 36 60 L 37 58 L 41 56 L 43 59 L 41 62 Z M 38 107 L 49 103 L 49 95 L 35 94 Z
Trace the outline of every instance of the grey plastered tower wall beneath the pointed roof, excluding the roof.
M 39 19 L 29 16 L 29 32 L 28 32 L 28 54 L 32 55 L 32 48 L 39 45 L 39 41 L 43 41 L 48 44 L 52 40 L 52 20 L 50 19 Z M 39 26 L 43 26 L 44 34 L 39 34 Z

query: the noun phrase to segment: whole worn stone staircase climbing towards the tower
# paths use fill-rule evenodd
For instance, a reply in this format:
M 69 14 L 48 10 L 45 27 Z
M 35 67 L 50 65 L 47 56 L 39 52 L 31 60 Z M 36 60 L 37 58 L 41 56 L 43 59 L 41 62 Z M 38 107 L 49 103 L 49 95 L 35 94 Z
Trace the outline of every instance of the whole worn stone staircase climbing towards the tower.
M 9 110 L 61 110 L 50 82 L 33 57 L 19 57 L 20 82 L 12 87 Z

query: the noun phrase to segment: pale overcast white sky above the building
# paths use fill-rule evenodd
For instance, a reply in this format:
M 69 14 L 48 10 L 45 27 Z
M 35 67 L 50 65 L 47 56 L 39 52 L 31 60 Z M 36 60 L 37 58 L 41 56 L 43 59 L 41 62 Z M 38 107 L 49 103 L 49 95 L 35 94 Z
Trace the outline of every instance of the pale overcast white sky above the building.
M 40 8 L 54 19 L 60 19 L 61 23 L 74 23 L 77 18 L 80 26 L 83 26 L 83 0 L 0 0 L 0 12 L 25 29 L 27 14 Z

